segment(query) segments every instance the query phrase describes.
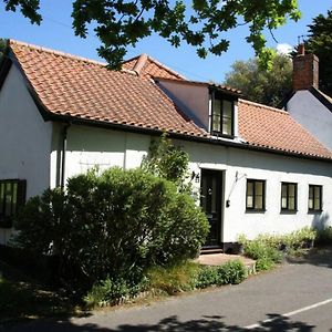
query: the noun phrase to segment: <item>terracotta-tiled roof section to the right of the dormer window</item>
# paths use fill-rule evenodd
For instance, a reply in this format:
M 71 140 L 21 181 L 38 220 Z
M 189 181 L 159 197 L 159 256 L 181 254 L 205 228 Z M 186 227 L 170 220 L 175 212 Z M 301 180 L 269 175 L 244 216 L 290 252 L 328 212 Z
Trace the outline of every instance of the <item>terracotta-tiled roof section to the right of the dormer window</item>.
M 332 152 L 284 111 L 239 100 L 238 114 L 239 133 L 250 145 L 332 158 Z

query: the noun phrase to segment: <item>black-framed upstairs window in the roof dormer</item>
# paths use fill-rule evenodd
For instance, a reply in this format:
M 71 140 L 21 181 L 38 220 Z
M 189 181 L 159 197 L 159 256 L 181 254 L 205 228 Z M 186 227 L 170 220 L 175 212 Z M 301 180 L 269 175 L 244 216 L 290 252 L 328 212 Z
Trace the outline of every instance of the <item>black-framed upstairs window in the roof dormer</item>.
M 212 97 L 211 132 L 234 136 L 234 102 L 217 93 Z

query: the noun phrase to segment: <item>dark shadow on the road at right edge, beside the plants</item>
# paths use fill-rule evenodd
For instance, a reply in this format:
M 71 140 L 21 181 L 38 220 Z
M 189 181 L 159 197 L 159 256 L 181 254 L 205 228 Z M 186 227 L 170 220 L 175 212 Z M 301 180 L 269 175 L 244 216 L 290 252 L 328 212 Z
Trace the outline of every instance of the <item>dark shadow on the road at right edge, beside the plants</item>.
M 332 268 L 332 246 L 313 248 L 304 257 L 290 257 L 291 263 L 309 263 L 318 267 Z

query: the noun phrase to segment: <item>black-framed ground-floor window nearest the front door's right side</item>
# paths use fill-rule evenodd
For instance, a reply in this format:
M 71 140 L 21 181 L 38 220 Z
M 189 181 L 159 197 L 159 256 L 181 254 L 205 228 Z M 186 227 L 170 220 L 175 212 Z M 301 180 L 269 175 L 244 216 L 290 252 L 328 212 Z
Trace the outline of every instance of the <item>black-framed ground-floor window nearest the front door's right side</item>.
M 266 181 L 247 179 L 247 210 L 264 210 L 266 208 Z

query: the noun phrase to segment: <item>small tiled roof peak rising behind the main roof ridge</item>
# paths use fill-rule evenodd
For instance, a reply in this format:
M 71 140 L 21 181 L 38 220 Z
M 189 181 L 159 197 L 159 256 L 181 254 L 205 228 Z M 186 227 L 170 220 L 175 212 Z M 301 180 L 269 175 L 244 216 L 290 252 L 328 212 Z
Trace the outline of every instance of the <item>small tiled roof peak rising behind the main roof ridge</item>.
M 162 76 L 173 80 L 186 80 L 185 76 L 169 69 L 159 61 L 153 59 L 147 54 L 141 54 L 132 58 L 123 63 L 123 69 L 132 70 L 137 73 L 138 76 L 144 79 L 151 79 L 153 76 Z

